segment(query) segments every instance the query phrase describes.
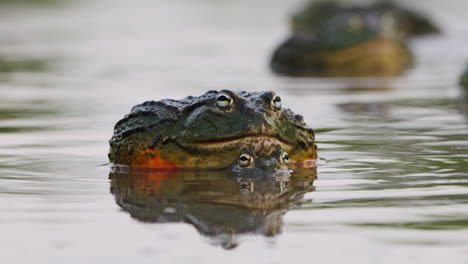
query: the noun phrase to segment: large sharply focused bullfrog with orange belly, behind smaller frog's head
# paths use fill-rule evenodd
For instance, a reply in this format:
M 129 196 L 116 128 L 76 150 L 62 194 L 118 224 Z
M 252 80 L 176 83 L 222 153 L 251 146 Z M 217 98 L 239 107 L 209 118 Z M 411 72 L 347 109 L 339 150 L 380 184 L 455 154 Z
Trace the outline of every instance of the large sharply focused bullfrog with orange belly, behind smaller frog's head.
M 314 131 L 301 115 L 281 104 L 271 91 L 230 90 L 147 101 L 115 125 L 109 159 L 163 169 L 234 169 L 245 151 L 263 161 L 283 152 L 291 164 L 315 160 Z

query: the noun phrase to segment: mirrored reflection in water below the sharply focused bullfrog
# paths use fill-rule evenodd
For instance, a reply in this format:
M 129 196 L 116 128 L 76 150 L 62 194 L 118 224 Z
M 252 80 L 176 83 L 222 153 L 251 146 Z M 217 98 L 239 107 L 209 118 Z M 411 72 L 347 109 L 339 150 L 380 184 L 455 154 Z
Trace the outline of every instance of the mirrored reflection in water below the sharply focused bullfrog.
M 191 224 L 225 249 L 237 247 L 240 234 L 280 234 L 283 215 L 315 190 L 316 177 L 316 167 L 299 168 L 292 176 L 127 168 L 113 168 L 109 175 L 116 203 L 132 218 Z

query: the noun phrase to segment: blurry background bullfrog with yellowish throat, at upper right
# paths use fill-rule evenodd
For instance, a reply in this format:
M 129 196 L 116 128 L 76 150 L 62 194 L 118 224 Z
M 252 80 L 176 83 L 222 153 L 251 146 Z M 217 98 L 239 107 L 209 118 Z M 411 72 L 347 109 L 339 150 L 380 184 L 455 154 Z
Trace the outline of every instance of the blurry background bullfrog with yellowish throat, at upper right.
M 409 26 L 403 27 L 402 12 L 389 11 L 394 9 L 392 5 L 341 7 L 321 3 L 315 8 L 323 17 L 317 16 L 311 25 L 306 15 L 295 16 L 299 22 L 294 23 L 293 34 L 273 53 L 270 66 L 275 73 L 385 77 L 400 75 L 411 66 L 405 36 L 413 30 L 403 33 Z

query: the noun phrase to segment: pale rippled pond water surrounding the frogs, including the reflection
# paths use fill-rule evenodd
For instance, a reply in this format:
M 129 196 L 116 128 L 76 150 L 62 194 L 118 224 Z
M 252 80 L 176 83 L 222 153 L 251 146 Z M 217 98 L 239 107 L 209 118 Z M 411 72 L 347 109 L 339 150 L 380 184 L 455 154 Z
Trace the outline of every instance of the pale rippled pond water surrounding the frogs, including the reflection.
M 2 263 L 467 263 L 468 2 L 407 3 L 444 34 L 385 80 L 271 74 L 300 4 L 1 5 Z M 108 140 L 131 106 L 209 89 L 276 91 L 315 129 L 317 169 L 115 177 Z

